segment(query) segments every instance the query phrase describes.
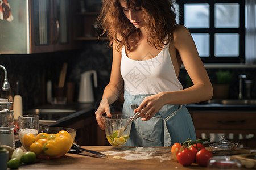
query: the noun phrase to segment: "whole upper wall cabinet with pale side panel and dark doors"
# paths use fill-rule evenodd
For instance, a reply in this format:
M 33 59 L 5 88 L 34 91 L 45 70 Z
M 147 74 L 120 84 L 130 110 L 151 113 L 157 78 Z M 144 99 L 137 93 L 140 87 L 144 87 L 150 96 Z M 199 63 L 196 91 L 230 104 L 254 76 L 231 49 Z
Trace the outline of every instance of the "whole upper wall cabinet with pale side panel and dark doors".
M 72 0 L 9 0 L 14 20 L 0 21 L 0 54 L 31 54 L 76 48 Z

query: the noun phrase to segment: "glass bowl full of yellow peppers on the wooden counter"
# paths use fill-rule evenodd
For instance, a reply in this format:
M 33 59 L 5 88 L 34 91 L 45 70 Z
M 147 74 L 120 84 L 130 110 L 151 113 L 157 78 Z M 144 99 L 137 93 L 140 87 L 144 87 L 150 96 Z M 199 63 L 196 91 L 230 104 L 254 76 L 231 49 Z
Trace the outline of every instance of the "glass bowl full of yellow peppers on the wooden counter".
M 67 154 L 75 137 L 76 129 L 45 127 L 38 134 L 20 135 L 20 142 L 27 151 L 35 152 L 37 158 L 51 159 Z

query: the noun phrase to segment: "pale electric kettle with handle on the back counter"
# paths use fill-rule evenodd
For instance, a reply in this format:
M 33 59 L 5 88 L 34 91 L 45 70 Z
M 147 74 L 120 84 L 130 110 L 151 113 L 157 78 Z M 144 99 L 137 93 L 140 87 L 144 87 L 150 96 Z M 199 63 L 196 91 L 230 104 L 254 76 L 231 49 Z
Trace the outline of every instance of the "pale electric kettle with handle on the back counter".
M 93 83 L 92 83 L 92 76 L 94 80 L 94 87 L 98 87 L 97 84 L 97 73 L 95 70 L 85 71 L 81 74 L 80 80 L 80 88 L 79 88 L 79 98 L 78 101 L 80 103 L 91 103 L 94 101 L 93 95 Z

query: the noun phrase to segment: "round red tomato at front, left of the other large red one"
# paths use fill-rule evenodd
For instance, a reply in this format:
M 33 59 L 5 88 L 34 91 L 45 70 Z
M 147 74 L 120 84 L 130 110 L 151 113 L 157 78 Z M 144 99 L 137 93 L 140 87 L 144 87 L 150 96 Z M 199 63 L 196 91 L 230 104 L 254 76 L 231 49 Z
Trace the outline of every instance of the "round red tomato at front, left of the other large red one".
M 191 165 L 194 162 L 194 160 L 195 156 L 188 148 L 185 148 L 183 151 L 177 154 L 177 161 L 183 166 Z

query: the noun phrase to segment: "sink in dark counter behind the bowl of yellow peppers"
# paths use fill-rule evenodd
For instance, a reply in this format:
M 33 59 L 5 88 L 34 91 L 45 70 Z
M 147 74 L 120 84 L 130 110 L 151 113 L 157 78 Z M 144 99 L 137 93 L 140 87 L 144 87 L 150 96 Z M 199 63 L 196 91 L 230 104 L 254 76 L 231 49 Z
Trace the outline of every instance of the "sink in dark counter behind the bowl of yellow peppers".
M 39 115 L 40 126 L 48 126 L 54 124 L 60 118 L 66 117 L 75 112 L 75 109 L 31 109 L 24 111 L 23 114 Z

